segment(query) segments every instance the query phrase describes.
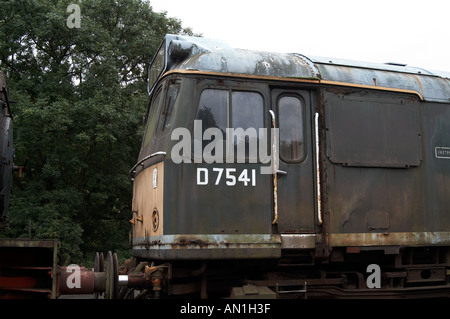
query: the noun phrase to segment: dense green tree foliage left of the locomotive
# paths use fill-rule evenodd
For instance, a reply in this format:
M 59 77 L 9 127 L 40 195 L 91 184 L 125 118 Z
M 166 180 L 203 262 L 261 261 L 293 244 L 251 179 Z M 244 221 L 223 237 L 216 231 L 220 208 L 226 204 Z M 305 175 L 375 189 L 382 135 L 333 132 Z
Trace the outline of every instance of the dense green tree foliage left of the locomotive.
M 69 28 L 67 6 L 81 9 Z M 8 0 L 0 67 L 14 112 L 16 178 L 0 236 L 53 238 L 60 262 L 128 245 L 148 64 L 166 33 L 192 34 L 140 0 Z M 88 254 L 88 256 L 84 256 Z

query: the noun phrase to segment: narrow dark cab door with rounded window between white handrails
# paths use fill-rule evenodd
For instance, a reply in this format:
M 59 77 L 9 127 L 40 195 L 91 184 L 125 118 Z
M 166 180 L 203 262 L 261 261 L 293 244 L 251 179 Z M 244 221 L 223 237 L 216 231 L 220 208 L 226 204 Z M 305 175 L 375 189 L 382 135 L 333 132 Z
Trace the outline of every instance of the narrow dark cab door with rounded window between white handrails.
M 311 94 L 274 89 L 271 99 L 279 128 L 278 232 L 311 233 L 314 232 Z

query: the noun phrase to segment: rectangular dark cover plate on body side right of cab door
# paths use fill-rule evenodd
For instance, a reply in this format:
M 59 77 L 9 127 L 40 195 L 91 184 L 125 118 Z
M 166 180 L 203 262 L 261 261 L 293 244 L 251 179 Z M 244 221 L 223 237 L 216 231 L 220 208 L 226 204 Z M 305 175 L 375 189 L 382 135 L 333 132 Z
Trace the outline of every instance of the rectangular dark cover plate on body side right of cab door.
M 351 90 L 326 91 L 328 157 L 346 166 L 410 167 L 422 159 L 419 102 Z

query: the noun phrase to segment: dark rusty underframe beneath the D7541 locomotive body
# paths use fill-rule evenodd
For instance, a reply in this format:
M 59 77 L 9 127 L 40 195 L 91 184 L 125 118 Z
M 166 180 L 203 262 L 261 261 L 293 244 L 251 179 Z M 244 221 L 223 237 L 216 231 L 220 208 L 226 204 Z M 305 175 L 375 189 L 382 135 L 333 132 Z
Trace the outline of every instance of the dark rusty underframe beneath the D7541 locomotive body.
M 381 269 L 381 285 L 369 288 L 367 266 L 374 263 Z M 229 297 L 241 288 L 238 298 L 450 296 L 450 248 L 444 246 L 338 247 L 327 260 L 315 258 L 311 249 L 290 249 L 278 259 L 170 261 L 158 269 L 162 284 L 156 295 L 146 290 L 146 297 Z

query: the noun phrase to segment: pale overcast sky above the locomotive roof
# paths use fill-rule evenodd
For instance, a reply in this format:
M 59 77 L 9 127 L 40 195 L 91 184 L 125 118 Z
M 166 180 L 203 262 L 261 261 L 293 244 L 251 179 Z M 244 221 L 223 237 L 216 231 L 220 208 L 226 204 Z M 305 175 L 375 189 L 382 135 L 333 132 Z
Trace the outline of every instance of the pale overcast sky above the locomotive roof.
M 448 0 L 150 0 L 231 46 L 450 72 Z

